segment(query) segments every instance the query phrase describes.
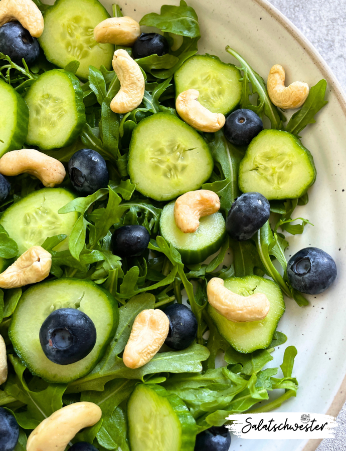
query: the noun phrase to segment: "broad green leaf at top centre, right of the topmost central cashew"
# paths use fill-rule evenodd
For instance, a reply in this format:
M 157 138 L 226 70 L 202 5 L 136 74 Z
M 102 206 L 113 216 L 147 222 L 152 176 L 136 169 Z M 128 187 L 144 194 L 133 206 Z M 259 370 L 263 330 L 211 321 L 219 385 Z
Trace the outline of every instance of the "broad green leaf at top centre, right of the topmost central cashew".
M 189 38 L 200 37 L 200 27 L 195 10 L 188 7 L 182 0 L 180 6 L 163 5 L 160 14 L 146 14 L 139 25 L 156 27 L 168 33 L 187 36 Z

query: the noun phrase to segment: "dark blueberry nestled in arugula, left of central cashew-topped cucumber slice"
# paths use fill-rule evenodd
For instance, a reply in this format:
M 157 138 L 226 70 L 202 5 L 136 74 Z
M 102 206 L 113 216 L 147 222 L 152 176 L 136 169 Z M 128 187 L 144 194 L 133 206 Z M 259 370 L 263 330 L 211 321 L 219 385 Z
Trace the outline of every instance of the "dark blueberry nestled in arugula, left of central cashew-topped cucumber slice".
M 123 225 L 113 233 L 113 252 L 121 258 L 138 257 L 147 249 L 149 241 L 149 232 L 143 225 Z

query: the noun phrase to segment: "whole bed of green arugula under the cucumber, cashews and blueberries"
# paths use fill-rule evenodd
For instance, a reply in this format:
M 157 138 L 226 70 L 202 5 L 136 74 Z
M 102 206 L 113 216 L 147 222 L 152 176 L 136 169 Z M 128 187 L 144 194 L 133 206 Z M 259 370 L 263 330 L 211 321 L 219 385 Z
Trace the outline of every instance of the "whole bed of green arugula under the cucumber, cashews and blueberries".
M 41 10 L 47 7 L 35 2 Z M 118 6 L 114 16 L 122 16 Z M 104 67 L 90 66 L 88 81 L 83 84 L 83 100 L 87 122 L 71 146 L 47 154 L 67 162 L 78 149 L 88 147 L 98 151 L 107 160 L 110 173 L 108 188 L 102 188 L 87 197 L 79 197 L 59 210 L 64 214 L 77 211 L 79 216 L 69 238 L 69 249 L 55 251 L 66 236 L 48 238 L 43 247 L 52 254 L 51 278 L 75 277 L 90 279 L 106 288 L 118 301 L 120 322 L 114 339 L 96 367 L 86 376 L 68 385 L 48 384 L 26 369 L 15 354 L 8 337 L 8 328 L 22 289 L 0 290 L 0 334 L 5 338 L 11 361 L 9 378 L 0 387 L 0 405 L 10 409 L 21 427 L 16 451 L 24 451 L 27 435 L 44 418 L 55 410 L 79 400 L 92 401 L 102 409 L 101 420 L 76 435 L 76 441 L 88 441 L 98 449 L 129 449 L 126 438 L 125 405 L 135 384 L 161 384 L 177 394 L 189 407 L 202 431 L 211 425 L 225 423 L 232 413 L 251 409 L 264 412 L 279 406 L 296 395 L 298 383 L 292 377 L 296 349 L 286 348 L 281 365 L 282 377 L 275 377 L 278 368 L 263 367 L 272 360 L 275 346 L 286 341 L 284 334 L 276 332 L 268 349 L 241 354 L 235 351 L 218 333 L 207 311 L 206 286 L 212 277 L 228 278 L 249 275 L 270 276 L 288 297 L 299 305 L 308 302 L 292 287 L 287 276 L 284 251 L 288 246 L 283 232 L 303 233 L 309 223 L 303 218 L 292 218 L 297 205 L 306 204 L 307 195 L 300 199 L 272 201 L 274 221 L 267 222 L 253 239 L 233 242 L 228 237 L 220 253 L 207 265 L 185 266 L 179 252 L 159 236 L 159 218 L 163 204 L 142 196 L 135 190 L 127 174 L 127 152 L 131 134 L 145 117 L 158 112 L 177 114 L 175 88 L 172 76 L 175 71 L 198 51 L 200 29 L 195 11 L 184 0 L 180 6 L 162 6 L 160 14 L 148 14 L 140 25 L 160 29 L 167 38 L 170 50 L 167 55 L 152 55 L 137 60 L 145 77 L 142 104 L 131 113 L 118 115 L 111 111 L 110 101 L 120 88 L 114 72 Z M 131 53 L 131 49 L 126 49 Z M 289 131 L 298 137 L 306 125 L 314 123 L 315 114 L 325 105 L 325 80 L 310 89 L 303 107 L 287 125 L 285 117 L 270 101 L 263 79 L 234 50 L 227 52 L 235 57 L 243 73 L 240 107 L 250 108 L 267 117 L 271 127 Z M 43 56 L 30 69 L 15 65 L 9 57 L 0 54 L 3 66 L 0 77 L 24 95 L 31 83 L 54 66 Z M 79 63 L 70 63 L 65 70 L 76 73 Z M 255 99 L 255 101 L 253 100 Z M 221 211 L 227 215 L 238 188 L 238 167 L 245 149 L 228 142 L 222 131 L 205 133 L 215 161 L 214 172 L 203 188 L 215 191 L 221 200 Z M 1 211 L 40 189 L 39 180 L 23 174 L 11 178 L 11 195 L 0 206 Z M 71 187 L 66 180 L 62 186 Z M 0 215 L 2 213 L 0 212 Z M 292 224 L 297 219 L 301 223 Z M 148 251 L 141 258 L 123 259 L 111 252 L 111 235 L 120 225 L 141 224 L 152 239 Z M 281 233 L 278 230 L 281 229 Z M 233 252 L 233 263 L 223 264 L 226 253 Z M 8 233 L 0 230 L 0 257 L 14 259 L 17 244 Z M 282 268 L 278 271 L 277 261 Z M 23 288 L 25 290 L 25 288 Z M 161 308 L 172 302 L 182 302 L 186 294 L 198 320 L 197 342 L 183 351 L 163 351 L 138 369 L 127 368 L 121 355 L 128 340 L 136 315 L 143 309 Z M 205 333 L 209 331 L 209 338 Z M 216 358 L 224 356 L 226 366 L 216 368 Z M 268 391 L 284 389 L 276 399 L 269 399 Z

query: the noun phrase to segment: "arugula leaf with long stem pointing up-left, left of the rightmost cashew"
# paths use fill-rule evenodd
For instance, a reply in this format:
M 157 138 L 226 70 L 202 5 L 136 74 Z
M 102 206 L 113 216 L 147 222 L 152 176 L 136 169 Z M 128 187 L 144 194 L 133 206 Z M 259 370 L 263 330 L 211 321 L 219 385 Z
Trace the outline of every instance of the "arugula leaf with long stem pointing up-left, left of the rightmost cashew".
M 276 106 L 271 103 L 263 79 L 235 50 L 227 46 L 226 52 L 228 52 L 239 61 L 241 66 L 238 69 L 241 70 L 244 74 L 242 78 L 243 92 L 240 107 L 248 108 L 254 111 L 259 116 L 261 114 L 265 114 L 265 116 L 267 116 L 267 118 L 270 120 L 271 128 L 281 130 L 282 121 L 285 120 L 285 117 L 281 112 L 279 112 Z M 251 83 L 252 92 L 249 89 L 249 83 Z M 249 96 L 255 93 L 257 93 L 259 97 L 257 105 L 253 105 L 249 99 Z

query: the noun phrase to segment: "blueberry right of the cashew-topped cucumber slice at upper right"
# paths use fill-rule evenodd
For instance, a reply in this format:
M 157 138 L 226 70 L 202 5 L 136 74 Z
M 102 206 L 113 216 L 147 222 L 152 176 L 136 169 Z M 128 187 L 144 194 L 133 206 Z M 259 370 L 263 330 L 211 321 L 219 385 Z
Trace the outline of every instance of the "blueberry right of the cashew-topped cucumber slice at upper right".
M 224 126 L 226 138 L 236 146 L 248 146 L 262 130 L 261 118 L 246 108 L 233 111 L 226 119 Z

